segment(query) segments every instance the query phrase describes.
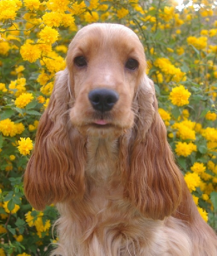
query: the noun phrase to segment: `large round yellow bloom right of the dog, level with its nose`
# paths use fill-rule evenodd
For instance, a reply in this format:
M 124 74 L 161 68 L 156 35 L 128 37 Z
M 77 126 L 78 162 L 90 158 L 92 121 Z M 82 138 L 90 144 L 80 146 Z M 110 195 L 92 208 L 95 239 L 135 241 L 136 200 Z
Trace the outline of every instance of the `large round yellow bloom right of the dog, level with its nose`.
M 190 95 L 191 93 L 183 85 L 180 85 L 172 89 L 169 99 L 173 105 L 183 106 L 189 103 Z

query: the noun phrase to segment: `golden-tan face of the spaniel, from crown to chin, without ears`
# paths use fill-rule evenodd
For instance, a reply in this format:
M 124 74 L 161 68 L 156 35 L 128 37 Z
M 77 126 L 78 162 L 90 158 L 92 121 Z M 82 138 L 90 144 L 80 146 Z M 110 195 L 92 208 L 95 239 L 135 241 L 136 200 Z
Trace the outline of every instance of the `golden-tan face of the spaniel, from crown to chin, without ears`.
M 69 45 L 67 67 L 75 98 L 70 119 L 82 134 L 120 136 L 132 127 L 146 67 L 134 32 L 122 25 L 84 27 Z

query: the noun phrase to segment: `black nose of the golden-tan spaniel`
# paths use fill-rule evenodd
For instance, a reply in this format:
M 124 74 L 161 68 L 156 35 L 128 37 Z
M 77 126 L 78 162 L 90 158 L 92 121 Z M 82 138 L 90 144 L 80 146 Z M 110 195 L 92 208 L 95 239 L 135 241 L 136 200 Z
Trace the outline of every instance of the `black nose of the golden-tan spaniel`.
M 119 99 L 118 93 L 109 89 L 94 89 L 88 98 L 95 110 L 110 111 Z

